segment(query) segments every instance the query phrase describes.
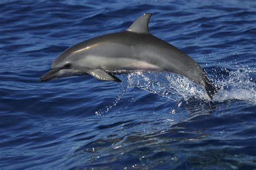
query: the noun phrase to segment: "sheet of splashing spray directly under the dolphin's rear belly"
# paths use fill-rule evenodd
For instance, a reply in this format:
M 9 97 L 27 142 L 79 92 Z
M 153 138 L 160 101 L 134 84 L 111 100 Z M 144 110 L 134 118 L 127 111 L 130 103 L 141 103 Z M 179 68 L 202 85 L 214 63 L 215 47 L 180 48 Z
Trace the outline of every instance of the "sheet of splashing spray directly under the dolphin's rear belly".
M 137 87 L 176 102 L 187 101 L 192 96 L 197 96 L 200 100 L 208 100 L 204 89 L 181 75 L 136 72 L 129 74 L 127 79 L 130 88 Z

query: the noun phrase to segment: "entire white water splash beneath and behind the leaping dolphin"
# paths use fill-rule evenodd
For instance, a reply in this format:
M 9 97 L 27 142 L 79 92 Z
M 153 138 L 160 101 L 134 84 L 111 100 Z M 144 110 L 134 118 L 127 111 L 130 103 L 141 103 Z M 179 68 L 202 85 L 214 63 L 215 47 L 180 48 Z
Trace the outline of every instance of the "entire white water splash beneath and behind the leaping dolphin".
M 256 104 L 255 83 L 250 74 L 255 74 L 255 69 L 239 68 L 231 71 L 221 68 L 220 74 L 210 76 L 209 79 L 217 85 L 220 90 L 213 96 L 213 102 L 224 102 L 241 100 Z M 225 73 L 225 74 L 224 74 Z M 103 115 L 117 105 L 122 96 L 129 88 L 139 88 L 169 98 L 172 101 L 190 103 L 196 100 L 200 103 L 211 102 L 205 90 L 184 76 L 172 73 L 150 73 L 134 72 L 122 76 L 122 83 L 119 83 L 119 93 L 112 105 L 105 110 L 96 111 L 97 115 Z

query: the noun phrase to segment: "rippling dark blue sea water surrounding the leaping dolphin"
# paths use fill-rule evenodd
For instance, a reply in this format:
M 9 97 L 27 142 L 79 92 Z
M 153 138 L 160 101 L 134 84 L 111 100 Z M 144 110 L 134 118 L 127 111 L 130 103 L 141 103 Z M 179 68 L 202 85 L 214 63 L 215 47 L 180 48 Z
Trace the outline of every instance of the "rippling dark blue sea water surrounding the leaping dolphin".
M 253 169 L 255 1 L 1 1 L 0 168 Z M 221 87 L 167 73 L 39 82 L 66 48 L 150 31 L 196 60 Z

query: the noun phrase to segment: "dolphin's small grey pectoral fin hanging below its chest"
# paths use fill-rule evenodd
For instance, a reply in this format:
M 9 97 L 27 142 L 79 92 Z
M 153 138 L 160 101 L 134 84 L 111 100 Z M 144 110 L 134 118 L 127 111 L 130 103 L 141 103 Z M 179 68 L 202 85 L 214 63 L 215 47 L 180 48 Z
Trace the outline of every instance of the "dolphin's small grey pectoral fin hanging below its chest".
M 122 82 L 116 76 L 114 76 L 110 73 L 107 73 L 103 69 L 91 69 L 87 73 L 90 74 L 91 76 L 95 77 L 98 80 Z

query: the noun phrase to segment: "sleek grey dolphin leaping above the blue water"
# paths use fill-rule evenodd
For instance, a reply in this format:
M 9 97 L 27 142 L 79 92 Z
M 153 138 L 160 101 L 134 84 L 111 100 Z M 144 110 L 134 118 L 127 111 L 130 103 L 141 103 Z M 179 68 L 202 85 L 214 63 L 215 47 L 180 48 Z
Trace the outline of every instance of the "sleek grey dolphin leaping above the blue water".
M 151 13 L 144 13 L 127 30 L 91 38 L 66 49 L 40 80 L 89 74 L 98 80 L 121 82 L 114 74 L 136 71 L 171 72 L 217 93 L 203 69 L 190 56 L 149 32 Z

